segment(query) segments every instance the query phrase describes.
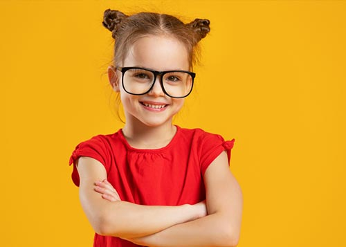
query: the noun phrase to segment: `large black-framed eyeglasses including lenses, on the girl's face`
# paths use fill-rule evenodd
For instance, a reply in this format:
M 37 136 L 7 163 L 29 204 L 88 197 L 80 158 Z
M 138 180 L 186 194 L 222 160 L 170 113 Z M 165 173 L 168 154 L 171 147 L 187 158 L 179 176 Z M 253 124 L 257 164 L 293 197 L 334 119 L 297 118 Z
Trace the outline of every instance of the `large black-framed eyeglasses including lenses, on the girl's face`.
M 190 71 L 153 71 L 149 68 L 120 66 L 116 69 L 122 72 L 122 88 L 132 95 L 148 93 L 160 75 L 163 93 L 172 98 L 185 98 L 191 93 L 196 77 Z

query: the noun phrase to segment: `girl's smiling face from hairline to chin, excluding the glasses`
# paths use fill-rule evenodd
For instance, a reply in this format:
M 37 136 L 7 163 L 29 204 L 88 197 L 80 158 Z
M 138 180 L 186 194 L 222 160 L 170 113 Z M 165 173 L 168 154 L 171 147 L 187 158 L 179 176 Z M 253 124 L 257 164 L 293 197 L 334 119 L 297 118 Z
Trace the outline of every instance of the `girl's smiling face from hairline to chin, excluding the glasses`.
M 190 66 L 188 52 L 177 39 L 168 36 L 147 36 L 138 39 L 125 57 L 123 67 L 136 66 L 155 71 L 185 70 Z M 183 107 L 183 98 L 170 98 L 161 88 L 161 77 L 151 91 L 145 95 L 126 93 L 121 85 L 121 72 L 118 75 L 120 98 L 127 122 L 136 122 L 150 127 L 171 124 L 173 116 Z

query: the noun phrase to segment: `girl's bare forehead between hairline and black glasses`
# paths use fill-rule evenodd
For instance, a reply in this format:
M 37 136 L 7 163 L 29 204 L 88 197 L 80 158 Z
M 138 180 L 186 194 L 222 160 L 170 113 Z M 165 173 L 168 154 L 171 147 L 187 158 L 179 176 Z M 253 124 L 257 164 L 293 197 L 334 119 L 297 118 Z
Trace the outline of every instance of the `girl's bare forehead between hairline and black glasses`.
M 188 49 L 172 36 L 147 35 L 130 46 L 123 66 L 140 66 L 156 71 L 188 70 Z

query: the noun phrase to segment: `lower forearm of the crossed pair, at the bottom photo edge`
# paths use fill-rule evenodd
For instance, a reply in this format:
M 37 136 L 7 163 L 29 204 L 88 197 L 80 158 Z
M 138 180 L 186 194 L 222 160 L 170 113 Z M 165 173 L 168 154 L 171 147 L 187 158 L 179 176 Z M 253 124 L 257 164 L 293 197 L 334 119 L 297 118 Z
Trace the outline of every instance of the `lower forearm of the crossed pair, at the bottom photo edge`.
M 224 214 L 210 214 L 131 241 L 152 247 L 237 246 L 239 228 L 232 226 L 227 217 Z

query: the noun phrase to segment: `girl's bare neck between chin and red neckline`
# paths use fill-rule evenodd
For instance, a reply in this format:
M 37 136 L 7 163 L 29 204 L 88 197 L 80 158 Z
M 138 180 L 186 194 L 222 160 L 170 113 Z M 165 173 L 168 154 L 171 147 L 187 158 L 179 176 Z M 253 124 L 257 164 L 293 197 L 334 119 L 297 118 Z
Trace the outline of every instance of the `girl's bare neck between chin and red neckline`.
M 127 121 L 122 133 L 131 147 L 158 149 L 170 143 L 176 133 L 176 127 L 171 121 L 156 127 L 149 127 L 138 121 Z

